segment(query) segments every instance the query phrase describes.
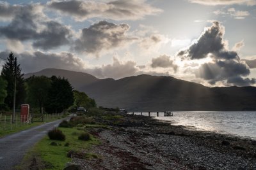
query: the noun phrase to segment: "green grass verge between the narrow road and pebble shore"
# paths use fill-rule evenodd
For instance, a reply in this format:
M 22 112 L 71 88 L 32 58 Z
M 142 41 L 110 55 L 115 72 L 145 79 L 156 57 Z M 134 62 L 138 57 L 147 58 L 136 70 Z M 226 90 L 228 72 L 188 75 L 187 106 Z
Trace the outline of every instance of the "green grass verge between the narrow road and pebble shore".
M 79 140 L 78 136 L 84 131 L 77 130 L 76 127 L 59 127 L 58 129 L 60 129 L 63 134 L 65 134 L 65 141 L 51 140 L 48 136 L 45 136 L 45 138 L 36 143 L 31 151 L 26 154 L 26 157 L 24 157 L 21 166 L 16 167 L 16 169 L 31 169 L 31 167 L 29 166 L 31 166 L 31 164 L 34 164 L 35 160 L 36 164 L 38 164 L 38 162 L 43 162 L 43 169 L 64 169 L 65 164 L 71 161 L 71 158 L 67 157 L 67 153 L 70 150 L 73 150 L 74 152 L 79 152 L 81 149 L 90 148 L 90 146 L 99 145 L 100 143 L 100 141 L 94 138 L 91 134 L 89 141 Z M 50 145 L 52 142 L 57 143 L 57 146 Z M 67 143 L 68 146 L 65 146 L 65 144 Z M 97 157 L 97 155 L 93 153 L 86 153 L 84 155 L 84 159 L 90 159 L 95 157 Z M 40 164 L 38 164 L 37 166 L 40 166 Z

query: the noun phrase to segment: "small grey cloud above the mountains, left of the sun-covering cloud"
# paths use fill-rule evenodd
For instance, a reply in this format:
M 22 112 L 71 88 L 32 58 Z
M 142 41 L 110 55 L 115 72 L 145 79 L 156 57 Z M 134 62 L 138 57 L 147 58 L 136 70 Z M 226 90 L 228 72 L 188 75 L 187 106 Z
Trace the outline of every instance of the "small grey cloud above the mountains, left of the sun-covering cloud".
M 178 66 L 176 64 L 173 64 L 173 60 L 170 59 L 169 56 L 167 55 L 160 55 L 159 57 L 153 58 L 152 59 L 152 64 L 150 64 L 152 68 L 156 67 L 172 67 L 173 70 L 176 72 Z

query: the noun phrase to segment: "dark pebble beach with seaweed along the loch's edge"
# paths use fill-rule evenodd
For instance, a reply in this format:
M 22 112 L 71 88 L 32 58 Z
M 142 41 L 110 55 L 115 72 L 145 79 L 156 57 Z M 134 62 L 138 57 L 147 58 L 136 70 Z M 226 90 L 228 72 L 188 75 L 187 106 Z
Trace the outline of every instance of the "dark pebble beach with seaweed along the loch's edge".
M 83 169 L 256 169 L 256 141 L 252 139 L 121 115 L 122 124 L 89 129 L 100 145 L 81 152 L 97 157 L 72 157 L 72 162 Z

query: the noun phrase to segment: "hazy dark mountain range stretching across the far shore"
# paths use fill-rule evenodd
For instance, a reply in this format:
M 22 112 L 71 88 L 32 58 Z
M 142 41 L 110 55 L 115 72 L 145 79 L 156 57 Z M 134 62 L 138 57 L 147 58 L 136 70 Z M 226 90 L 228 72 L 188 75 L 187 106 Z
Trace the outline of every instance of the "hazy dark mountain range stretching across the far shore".
M 170 76 L 142 74 L 113 80 L 87 73 L 44 69 L 31 75 L 64 76 L 73 87 L 94 98 L 99 106 L 130 111 L 256 110 L 256 87 L 205 87 Z

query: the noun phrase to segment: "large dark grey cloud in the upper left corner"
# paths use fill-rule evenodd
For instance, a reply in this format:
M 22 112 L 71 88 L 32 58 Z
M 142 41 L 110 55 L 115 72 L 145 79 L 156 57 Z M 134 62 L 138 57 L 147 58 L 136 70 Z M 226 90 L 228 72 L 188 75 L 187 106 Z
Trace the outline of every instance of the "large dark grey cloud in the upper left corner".
M 9 10 L 15 6 L 7 4 Z M 49 20 L 42 10 L 43 8 L 39 4 L 19 6 L 19 12 L 11 13 L 13 15 L 12 22 L 0 27 L 0 36 L 17 41 L 31 40 L 34 47 L 44 50 L 67 45 L 72 36 L 70 29 Z

